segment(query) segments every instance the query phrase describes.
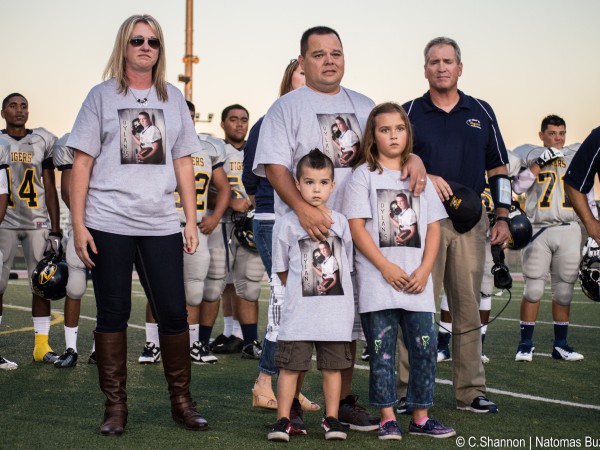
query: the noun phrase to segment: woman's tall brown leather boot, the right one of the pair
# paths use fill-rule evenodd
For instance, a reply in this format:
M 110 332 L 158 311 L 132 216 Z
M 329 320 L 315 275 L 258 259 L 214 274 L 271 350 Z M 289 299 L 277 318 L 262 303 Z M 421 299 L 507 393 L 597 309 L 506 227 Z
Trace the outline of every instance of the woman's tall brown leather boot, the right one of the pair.
M 192 361 L 190 359 L 190 332 L 159 334 L 163 369 L 171 397 L 171 417 L 188 430 L 208 430 L 208 422 L 198 411 L 190 395 Z

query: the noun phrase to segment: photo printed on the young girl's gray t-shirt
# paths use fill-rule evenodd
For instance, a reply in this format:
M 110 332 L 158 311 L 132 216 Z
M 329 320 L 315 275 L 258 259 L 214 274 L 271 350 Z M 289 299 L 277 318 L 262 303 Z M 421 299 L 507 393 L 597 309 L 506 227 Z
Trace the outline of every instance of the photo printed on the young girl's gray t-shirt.
M 377 189 L 379 247 L 421 248 L 420 199 L 408 189 Z

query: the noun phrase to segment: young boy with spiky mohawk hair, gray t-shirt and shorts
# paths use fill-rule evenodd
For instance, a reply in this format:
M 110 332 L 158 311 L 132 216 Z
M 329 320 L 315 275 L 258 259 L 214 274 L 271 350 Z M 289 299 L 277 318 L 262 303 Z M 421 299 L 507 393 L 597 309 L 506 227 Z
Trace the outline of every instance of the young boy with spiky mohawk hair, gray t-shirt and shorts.
M 273 229 L 272 270 L 286 290 L 275 354 L 280 369 L 278 420 L 268 434 L 270 441 L 289 441 L 292 424 L 288 415 L 292 403 L 298 402 L 296 381 L 300 372 L 310 369 L 313 345 L 323 376 L 325 439 L 346 439 L 338 408 L 340 370 L 352 364 L 352 238 L 348 221 L 326 205 L 334 185 L 331 159 L 312 150 L 298 162 L 296 187 L 307 203 L 331 216 L 329 236 L 321 242 L 312 241 L 294 212 L 284 215 Z

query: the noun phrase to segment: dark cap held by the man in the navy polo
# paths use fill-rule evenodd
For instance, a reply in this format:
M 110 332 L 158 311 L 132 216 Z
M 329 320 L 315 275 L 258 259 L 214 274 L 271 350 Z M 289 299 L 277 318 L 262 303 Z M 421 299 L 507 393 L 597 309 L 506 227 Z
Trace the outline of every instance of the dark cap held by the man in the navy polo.
M 446 182 L 452 189 L 452 196 L 443 202 L 444 208 L 454 229 L 459 233 L 466 233 L 481 219 L 481 196 L 460 183 L 448 180 Z

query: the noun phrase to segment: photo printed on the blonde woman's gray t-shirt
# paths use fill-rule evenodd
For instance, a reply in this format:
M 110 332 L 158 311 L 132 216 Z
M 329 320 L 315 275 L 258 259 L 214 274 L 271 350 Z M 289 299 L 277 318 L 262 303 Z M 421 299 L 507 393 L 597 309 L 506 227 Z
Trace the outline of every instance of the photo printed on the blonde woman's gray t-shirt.
M 121 164 L 165 164 L 166 136 L 162 109 L 119 110 Z

